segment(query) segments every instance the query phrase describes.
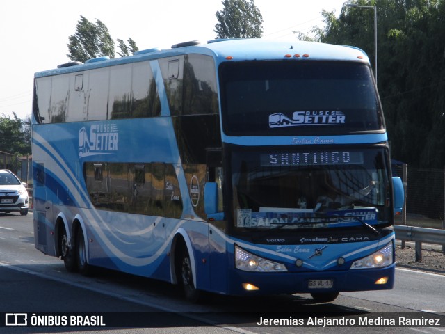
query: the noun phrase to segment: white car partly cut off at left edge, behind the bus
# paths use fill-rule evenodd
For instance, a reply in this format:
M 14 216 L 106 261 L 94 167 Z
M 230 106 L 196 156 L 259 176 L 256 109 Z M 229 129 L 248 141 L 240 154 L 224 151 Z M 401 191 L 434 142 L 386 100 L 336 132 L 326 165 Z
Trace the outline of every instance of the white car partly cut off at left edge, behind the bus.
M 26 183 L 20 182 L 10 170 L 0 169 L 0 212 L 28 214 L 29 198 Z

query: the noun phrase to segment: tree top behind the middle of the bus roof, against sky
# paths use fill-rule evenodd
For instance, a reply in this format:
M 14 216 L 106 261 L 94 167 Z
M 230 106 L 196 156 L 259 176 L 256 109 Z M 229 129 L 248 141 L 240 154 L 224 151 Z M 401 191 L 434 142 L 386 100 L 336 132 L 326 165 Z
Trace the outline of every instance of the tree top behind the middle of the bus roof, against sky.
M 263 17 L 254 0 L 223 0 L 223 10 L 216 12 L 216 38 L 261 38 Z

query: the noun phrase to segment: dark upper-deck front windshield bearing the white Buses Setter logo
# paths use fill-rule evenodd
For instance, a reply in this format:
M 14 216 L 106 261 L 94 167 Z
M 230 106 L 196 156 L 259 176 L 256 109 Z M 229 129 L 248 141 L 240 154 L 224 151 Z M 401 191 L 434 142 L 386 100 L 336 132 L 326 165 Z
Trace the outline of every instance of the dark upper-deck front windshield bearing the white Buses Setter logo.
M 257 61 L 220 66 L 229 135 L 348 134 L 384 129 L 369 66 L 339 61 Z

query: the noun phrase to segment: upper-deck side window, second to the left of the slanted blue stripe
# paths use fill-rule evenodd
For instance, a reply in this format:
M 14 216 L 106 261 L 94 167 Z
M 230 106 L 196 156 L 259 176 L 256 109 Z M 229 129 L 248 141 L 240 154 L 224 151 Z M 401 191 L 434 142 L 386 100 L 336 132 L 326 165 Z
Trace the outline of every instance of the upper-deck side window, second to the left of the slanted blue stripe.
M 131 109 L 131 64 L 110 67 L 108 118 L 129 118 Z

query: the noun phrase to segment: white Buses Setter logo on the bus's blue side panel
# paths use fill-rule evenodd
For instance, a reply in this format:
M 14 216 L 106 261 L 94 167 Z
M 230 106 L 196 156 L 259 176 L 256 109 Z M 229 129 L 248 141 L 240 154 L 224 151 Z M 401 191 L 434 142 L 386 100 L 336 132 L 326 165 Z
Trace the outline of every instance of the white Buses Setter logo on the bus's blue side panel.
M 96 124 L 79 130 L 79 157 L 110 154 L 118 150 L 118 125 Z

